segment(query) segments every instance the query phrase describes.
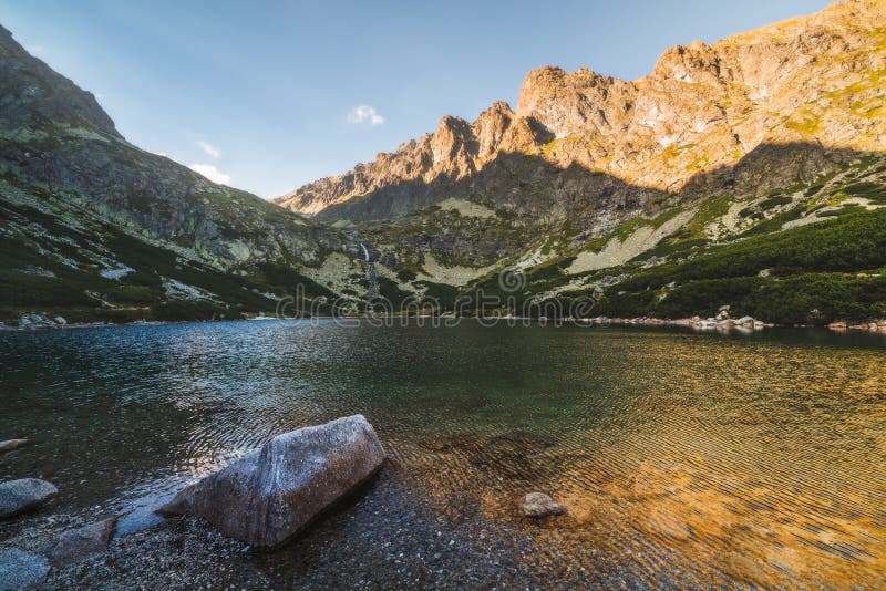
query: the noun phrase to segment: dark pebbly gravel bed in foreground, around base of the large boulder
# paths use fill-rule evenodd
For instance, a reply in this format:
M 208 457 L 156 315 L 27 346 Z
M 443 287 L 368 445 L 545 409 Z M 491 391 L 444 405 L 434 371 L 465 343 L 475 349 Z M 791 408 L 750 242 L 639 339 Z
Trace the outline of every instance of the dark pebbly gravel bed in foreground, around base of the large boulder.
M 256 550 L 193 518 L 159 521 L 117 535 L 109 549 L 53 569 L 38 589 L 379 589 L 537 587 L 550 573 L 528 569 L 532 536 L 476 510 L 470 496 L 441 515 L 385 466 L 290 542 Z M 39 551 L 59 533 L 107 514 L 52 514 L 52 502 L 4 523 L 0 550 Z M 507 526 L 504 525 L 506 528 Z M 539 521 L 532 527 L 554 527 Z M 516 546 L 515 546 L 516 543 Z M 586 584 L 580 572 L 563 582 Z M 540 579 L 539 579 L 540 576 Z

